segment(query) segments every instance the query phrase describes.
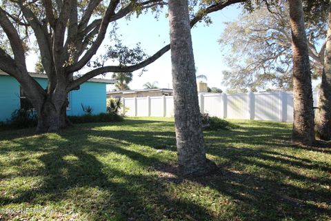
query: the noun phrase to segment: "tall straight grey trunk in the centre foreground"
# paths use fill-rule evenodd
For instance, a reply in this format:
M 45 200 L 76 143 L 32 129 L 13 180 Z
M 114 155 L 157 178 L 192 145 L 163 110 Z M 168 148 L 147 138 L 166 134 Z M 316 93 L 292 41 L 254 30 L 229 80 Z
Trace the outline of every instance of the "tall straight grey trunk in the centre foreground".
M 208 172 L 194 70 L 187 0 L 169 1 L 174 120 L 179 169 L 183 175 Z

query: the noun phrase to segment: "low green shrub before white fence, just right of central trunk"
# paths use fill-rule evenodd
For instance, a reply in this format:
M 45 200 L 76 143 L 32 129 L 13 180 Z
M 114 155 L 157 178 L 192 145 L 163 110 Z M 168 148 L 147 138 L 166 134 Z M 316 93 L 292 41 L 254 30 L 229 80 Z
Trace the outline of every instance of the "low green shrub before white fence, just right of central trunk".
M 202 124 L 207 130 L 217 131 L 217 130 L 231 130 L 234 128 L 239 128 L 238 125 L 232 124 L 225 119 L 221 119 L 219 117 L 210 117 L 208 113 L 201 114 Z

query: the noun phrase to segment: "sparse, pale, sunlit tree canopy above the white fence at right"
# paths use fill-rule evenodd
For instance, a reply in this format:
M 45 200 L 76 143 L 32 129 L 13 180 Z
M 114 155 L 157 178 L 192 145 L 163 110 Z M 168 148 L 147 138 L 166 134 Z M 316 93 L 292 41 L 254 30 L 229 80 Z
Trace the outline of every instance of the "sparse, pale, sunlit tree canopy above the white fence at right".
M 321 22 L 307 23 L 308 48 L 312 73 L 321 75 L 326 27 Z M 223 72 L 224 83 L 232 90 L 257 90 L 271 87 L 292 88 L 292 50 L 288 6 L 285 1 L 269 8 L 246 11 L 236 21 L 226 23 L 219 43 L 228 51 Z M 238 59 L 241 57 L 241 59 Z

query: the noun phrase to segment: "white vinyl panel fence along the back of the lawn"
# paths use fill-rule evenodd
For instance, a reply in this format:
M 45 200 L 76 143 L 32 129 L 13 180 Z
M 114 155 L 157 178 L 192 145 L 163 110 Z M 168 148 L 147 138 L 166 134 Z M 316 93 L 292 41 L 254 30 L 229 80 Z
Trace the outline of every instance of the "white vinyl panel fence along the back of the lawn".
M 314 106 L 317 106 L 317 93 Z M 128 116 L 172 117 L 172 96 L 123 98 L 123 110 Z M 199 94 L 201 113 L 228 119 L 260 119 L 275 122 L 293 121 L 292 92 L 261 92 L 227 95 L 225 93 Z

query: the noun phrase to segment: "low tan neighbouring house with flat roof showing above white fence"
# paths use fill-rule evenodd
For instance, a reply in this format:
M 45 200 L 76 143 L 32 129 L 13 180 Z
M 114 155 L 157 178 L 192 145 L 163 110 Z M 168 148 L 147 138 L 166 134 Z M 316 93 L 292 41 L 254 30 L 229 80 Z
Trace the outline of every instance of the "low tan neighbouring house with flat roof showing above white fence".
M 121 97 L 159 97 L 172 96 L 172 89 L 156 88 L 156 89 L 141 89 L 141 90 L 119 90 L 107 92 L 107 98 Z

